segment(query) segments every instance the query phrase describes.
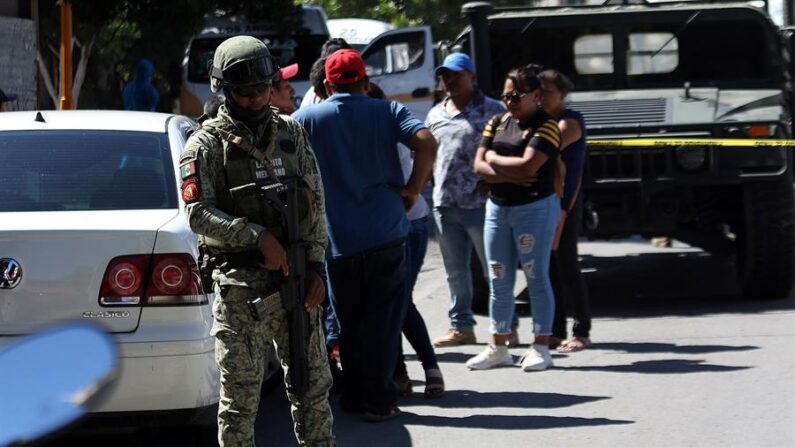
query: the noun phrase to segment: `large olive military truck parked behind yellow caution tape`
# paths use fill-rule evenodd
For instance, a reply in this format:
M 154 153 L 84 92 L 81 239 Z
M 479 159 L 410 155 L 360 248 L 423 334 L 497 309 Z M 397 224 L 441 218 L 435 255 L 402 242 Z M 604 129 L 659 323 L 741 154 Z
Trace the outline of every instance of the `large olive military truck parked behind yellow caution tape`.
M 570 107 L 589 133 L 587 237 L 670 236 L 735 256 L 745 296 L 788 296 L 795 30 L 766 2 L 616 3 L 468 3 L 453 47 L 492 95 L 531 62 L 574 81 Z

